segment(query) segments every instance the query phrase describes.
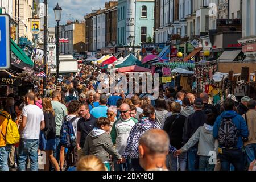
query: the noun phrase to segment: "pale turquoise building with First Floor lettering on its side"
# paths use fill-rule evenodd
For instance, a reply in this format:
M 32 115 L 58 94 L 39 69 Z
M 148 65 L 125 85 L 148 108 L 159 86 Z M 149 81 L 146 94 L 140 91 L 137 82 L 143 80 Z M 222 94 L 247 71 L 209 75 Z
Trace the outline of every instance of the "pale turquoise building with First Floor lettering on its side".
M 154 4 L 152 0 L 118 1 L 119 46 L 139 46 L 154 36 Z M 133 37 L 130 43 L 129 36 Z

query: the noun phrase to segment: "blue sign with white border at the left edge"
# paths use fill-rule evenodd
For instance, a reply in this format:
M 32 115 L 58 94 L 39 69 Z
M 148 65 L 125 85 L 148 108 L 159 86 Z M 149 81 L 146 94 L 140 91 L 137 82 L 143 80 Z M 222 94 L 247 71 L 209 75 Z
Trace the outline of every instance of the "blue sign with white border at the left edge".
M 0 69 L 10 68 L 10 17 L 0 14 Z

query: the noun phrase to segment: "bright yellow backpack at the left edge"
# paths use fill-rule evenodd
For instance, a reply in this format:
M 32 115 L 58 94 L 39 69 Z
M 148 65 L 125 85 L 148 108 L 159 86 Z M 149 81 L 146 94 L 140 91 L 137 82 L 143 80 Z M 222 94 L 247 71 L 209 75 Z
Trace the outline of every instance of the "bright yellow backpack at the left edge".
M 7 119 L 5 135 L 3 134 L 3 131 L 1 131 L 6 144 L 13 145 L 19 143 L 20 136 L 17 124 L 11 119 L 10 114 L 7 115 L 3 110 L 0 111 L 0 115 Z

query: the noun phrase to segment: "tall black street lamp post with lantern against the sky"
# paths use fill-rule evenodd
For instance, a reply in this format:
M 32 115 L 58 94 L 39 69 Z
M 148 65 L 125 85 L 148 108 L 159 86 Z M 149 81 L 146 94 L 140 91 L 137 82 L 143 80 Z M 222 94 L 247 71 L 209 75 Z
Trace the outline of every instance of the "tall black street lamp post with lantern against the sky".
M 59 7 L 59 4 L 57 3 L 57 6 L 53 9 L 54 10 L 54 15 L 55 15 L 55 20 L 57 22 L 57 31 L 56 31 L 56 48 L 57 48 L 57 54 L 56 54 L 56 59 L 57 59 L 57 71 L 56 71 L 56 81 L 58 82 L 59 80 L 59 67 L 60 67 L 60 60 L 59 60 L 59 23 L 61 19 L 61 7 Z

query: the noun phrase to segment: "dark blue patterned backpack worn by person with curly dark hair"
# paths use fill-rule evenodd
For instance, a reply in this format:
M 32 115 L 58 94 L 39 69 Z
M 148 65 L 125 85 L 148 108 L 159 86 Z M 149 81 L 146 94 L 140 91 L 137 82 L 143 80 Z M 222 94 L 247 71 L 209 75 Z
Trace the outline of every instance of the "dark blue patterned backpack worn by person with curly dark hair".
M 73 117 L 70 121 L 67 121 L 67 116 L 64 117 L 64 122 L 60 129 L 60 144 L 66 148 L 75 146 L 75 134 L 73 130 L 72 122 L 76 120 L 77 117 Z

